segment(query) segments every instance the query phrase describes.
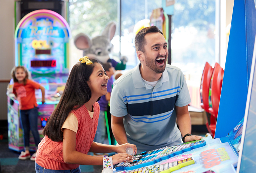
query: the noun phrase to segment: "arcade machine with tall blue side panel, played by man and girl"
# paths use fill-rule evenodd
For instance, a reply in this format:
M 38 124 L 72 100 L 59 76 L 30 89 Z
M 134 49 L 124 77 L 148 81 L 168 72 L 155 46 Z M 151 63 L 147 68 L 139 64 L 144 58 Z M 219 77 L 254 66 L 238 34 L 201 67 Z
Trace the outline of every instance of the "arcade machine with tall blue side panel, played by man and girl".
M 253 78 L 256 76 L 256 28 L 250 25 L 256 24 L 256 10 L 252 3 L 250 0 L 234 2 L 215 138 L 208 136 L 199 141 L 142 152 L 135 155 L 132 163 L 116 165 L 115 173 L 255 172 L 256 84 Z M 246 25 L 242 25 L 244 23 Z M 253 43 L 249 43 L 246 36 L 253 37 Z M 253 60 L 252 56 L 247 57 L 248 51 L 253 51 L 253 47 L 248 48 L 249 44 L 255 45 Z M 235 68 L 237 65 L 239 70 Z M 250 71 L 251 77 L 248 76 Z

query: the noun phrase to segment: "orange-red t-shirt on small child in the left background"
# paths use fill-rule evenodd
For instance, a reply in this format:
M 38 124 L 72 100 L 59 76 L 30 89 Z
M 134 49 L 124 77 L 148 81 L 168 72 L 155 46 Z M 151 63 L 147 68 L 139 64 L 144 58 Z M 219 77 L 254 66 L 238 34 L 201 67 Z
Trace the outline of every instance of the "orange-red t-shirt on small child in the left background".
M 13 84 L 13 93 L 17 95 L 20 110 L 28 110 L 37 107 L 35 89 L 39 89 L 40 84 L 27 79 L 24 85 L 15 82 Z

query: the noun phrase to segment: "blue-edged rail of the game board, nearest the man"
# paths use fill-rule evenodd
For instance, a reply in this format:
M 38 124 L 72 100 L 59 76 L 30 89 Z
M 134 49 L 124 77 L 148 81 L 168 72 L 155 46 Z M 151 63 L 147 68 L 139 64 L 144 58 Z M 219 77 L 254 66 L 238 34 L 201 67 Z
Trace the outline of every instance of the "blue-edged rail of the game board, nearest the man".
M 193 141 L 182 143 L 174 146 L 167 146 L 159 148 L 156 150 L 151 150 L 149 152 L 141 152 L 140 155 L 136 156 L 136 160 L 132 163 L 119 163 L 115 169 L 116 170 L 133 170 L 141 167 L 147 167 L 149 165 L 158 163 L 159 161 L 169 159 L 173 156 L 182 154 L 186 151 L 193 150 L 205 146 L 206 142 L 204 140 Z

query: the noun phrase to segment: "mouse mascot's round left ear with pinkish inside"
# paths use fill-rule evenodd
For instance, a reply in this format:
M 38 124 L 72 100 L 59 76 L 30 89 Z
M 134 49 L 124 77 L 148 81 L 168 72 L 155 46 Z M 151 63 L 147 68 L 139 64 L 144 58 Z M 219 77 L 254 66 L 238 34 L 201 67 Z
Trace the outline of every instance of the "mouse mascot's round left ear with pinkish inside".
M 80 50 L 88 49 L 92 46 L 91 39 L 83 33 L 75 36 L 74 44 Z

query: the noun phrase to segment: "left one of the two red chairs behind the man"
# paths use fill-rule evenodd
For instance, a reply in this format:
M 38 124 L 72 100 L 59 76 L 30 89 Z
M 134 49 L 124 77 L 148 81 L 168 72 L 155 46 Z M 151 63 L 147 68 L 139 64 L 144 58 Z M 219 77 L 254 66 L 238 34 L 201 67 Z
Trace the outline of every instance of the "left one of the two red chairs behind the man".
M 204 66 L 203 74 L 202 74 L 201 84 L 200 84 L 200 98 L 201 98 L 200 105 L 206 111 L 206 116 L 207 116 L 206 128 L 208 132 L 210 132 L 211 135 L 213 136 L 213 133 L 209 128 L 211 114 L 209 113 L 209 98 L 208 98 L 212 72 L 213 72 L 212 66 L 209 65 L 208 62 L 206 62 Z

